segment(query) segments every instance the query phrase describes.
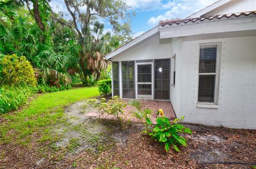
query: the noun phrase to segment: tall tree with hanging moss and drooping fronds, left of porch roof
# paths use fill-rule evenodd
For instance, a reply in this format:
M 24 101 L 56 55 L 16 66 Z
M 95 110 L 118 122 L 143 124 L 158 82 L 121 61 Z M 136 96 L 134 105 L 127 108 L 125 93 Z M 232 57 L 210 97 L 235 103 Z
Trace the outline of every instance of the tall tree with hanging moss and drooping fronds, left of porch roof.
M 74 28 L 77 41 L 81 45 L 78 51 L 79 67 L 83 75 L 83 83 L 89 85 L 90 80 L 98 79 L 100 71 L 107 68 L 103 56 L 119 45 L 118 36 L 122 34 L 123 42 L 129 41 L 130 25 L 127 20 L 128 6 L 122 0 L 64 0 L 71 16 L 70 21 L 63 21 L 53 14 L 53 19 L 63 25 Z M 82 7 L 86 10 L 82 11 Z M 121 23 L 120 20 L 127 22 Z M 104 34 L 104 20 L 113 26 L 113 35 Z

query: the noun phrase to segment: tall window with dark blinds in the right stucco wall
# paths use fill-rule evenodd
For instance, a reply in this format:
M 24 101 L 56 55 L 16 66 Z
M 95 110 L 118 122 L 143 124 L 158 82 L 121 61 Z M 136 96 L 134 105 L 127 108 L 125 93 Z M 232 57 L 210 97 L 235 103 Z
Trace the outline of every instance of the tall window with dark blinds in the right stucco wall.
M 217 45 L 201 46 L 198 102 L 216 103 L 217 70 Z

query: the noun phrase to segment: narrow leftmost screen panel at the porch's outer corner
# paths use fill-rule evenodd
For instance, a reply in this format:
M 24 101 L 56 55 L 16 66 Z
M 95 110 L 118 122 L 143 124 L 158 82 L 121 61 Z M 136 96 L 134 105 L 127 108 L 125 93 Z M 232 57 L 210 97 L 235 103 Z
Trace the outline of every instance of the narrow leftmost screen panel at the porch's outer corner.
M 119 62 L 112 62 L 113 95 L 119 96 Z

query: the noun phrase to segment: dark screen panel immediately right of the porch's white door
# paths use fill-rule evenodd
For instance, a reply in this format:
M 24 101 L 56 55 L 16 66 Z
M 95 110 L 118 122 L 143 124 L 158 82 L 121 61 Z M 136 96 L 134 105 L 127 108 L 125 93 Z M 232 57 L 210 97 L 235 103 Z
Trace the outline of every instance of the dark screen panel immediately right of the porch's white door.
M 170 99 L 170 59 L 154 60 L 154 99 Z

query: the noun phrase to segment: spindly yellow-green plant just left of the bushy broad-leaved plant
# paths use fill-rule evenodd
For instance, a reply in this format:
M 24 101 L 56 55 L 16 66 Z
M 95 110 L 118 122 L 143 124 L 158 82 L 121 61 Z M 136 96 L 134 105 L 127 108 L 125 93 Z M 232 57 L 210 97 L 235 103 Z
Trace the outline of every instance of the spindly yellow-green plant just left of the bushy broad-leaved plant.
M 145 102 L 143 100 L 143 102 L 141 103 L 138 100 L 131 100 L 129 102 L 129 104 L 133 107 L 136 108 L 136 110 L 130 111 L 129 113 L 134 116 L 135 118 L 141 120 L 141 122 L 145 125 L 146 127 L 146 131 L 149 131 L 149 126 L 151 126 L 151 124 L 153 124 L 151 122 L 151 114 L 153 112 L 153 110 L 150 110 L 148 108 L 145 107 Z

